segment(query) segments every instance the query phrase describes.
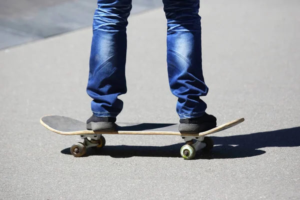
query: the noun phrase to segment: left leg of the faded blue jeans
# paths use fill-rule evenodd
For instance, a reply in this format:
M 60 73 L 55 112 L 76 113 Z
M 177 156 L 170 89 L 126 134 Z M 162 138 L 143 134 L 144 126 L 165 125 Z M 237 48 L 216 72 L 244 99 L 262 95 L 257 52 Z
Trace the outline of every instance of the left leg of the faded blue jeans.
M 118 95 L 127 91 L 125 79 L 126 26 L 131 0 L 98 0 L 86 92 L 96 116 L 117 116 L 123 108 Z

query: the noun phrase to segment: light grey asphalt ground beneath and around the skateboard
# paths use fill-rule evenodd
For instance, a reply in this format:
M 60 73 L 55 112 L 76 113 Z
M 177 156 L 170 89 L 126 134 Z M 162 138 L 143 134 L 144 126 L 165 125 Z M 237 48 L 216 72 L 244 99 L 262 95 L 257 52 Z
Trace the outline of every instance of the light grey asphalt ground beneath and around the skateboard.
M 176 136 L 107 135 L 100 153 L 39 123 L 84 121 L 91 27 L 0 51 L 1 199 L 299 199 L 300 2 L 201 2 L 203 99 L 218 124 L 210 153 L 179 155 Z M 178 122 L 168 88 L 162 7 L 132 15 L 118 121 Z

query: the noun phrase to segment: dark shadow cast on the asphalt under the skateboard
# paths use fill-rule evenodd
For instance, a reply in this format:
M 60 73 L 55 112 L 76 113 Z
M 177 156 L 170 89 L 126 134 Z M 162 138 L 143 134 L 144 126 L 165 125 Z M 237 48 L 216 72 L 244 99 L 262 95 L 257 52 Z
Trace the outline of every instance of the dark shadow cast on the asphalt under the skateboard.
M 245 135 L 211 136 L 211 138 L 215 146 L 209 152 L 198 151 L 195 159 L 251 157 L 265 153 L 266 151 L 259 149 L 263 147 L 300 146 L 300 126 Z M 86 156 L 109 155 L 115 158 L 132 156 L 180 157 L 179 150 L 183 144 L 182 142 L 167 146 L 104 146 L 99 150 L 87 149 Z M 69 149 L 65 148 L 61 150 L 61 153 L 71 154 Z

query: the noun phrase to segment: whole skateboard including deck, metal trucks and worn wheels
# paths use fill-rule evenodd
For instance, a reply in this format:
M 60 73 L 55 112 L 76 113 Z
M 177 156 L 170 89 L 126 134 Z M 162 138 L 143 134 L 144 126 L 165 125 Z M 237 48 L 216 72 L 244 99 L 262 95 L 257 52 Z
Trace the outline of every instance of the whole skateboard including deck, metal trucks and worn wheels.
M 93 131 L 86 129 L 85 122 L 66 116 L 46 115 L 40 118 L 40 123 L 53 132 L 63 135 L 80 135 L 83 142 L 74 143 L 70 147 L 71 154 L 75 157 L 84 155 L 87 148 L 102 148 L 105 145 L 103 134 L 151 134 L 182 137 L 186 143 L 181 147 L 180 155 L 184 159 L 194 158 L 196 151 L 200 149 L 210 150 L 213 147 L 212 139 L 205 135 L 230 128 L 243 121 L 244 118 L 239 118 L 204 132 L 181 134 L 178 131 L 179 124 L 176 123 L 116 123 L 116 131 Z

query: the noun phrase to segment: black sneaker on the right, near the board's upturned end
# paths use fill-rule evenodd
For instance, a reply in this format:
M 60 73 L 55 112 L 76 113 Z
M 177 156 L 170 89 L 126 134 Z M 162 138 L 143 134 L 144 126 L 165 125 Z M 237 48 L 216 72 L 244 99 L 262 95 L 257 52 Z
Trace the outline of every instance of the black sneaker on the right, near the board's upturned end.
M 206 112 L 199 117 L 179 120 L 180 133 L 199 133 L 216 127 L 216 118 Z

